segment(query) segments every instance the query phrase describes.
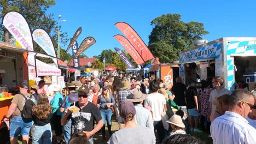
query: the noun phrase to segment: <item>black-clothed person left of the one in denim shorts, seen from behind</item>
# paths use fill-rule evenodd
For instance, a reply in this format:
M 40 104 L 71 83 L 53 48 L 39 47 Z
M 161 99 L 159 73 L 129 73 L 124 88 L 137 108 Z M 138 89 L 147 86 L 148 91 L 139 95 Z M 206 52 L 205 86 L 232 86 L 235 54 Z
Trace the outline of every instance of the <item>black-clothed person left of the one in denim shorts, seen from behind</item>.
M 176 83 L 172 86 L 172 94 L 175 95 L 175 98 L 173 101 L 178 105 L 178 106 L 185 106 L 185 91 L 186 91 L 186 86 L 184 83 L 182 83 L 181 77 L 176 78 Z

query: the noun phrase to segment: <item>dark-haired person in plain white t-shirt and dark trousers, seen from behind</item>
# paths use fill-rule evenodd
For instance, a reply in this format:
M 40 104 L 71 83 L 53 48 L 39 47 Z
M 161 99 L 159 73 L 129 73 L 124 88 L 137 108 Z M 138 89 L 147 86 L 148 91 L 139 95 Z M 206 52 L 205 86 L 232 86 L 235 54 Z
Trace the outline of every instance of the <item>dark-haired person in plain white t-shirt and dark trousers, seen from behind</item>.
M 162 116 L 167 111 L 165 96 L 158 93 L 158 82 L 153 80 L 149 84 L 148 97 L 145 100 L 144 105 L 152 107 L 153 117 L 154 117 L 154 129 L 158 132 L 158 140 L 161 143 L 164 140 L 166 134 L 164 131 L 164 126 L 162 125 Z

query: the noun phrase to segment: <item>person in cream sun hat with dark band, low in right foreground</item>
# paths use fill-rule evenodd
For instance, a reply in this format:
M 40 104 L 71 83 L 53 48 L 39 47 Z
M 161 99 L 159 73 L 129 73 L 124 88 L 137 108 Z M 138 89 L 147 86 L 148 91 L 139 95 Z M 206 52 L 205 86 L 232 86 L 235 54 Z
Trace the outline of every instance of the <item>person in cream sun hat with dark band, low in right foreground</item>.
M 167 123 L 170 123 L 172 127 L 172 132 L 170 133 L 169 136 L 175 135 L 175 134 L 186 134 L 185 131 L 185 125 L 182 122 L 181 116 L 178 116 L 174 114 L 168 121 Z

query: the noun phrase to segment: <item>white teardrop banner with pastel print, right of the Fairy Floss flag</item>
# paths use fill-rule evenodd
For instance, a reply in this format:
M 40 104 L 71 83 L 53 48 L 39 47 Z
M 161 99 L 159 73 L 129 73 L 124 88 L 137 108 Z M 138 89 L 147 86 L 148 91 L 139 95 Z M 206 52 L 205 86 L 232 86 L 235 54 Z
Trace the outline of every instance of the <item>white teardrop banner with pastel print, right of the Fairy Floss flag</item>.
M 51 41 L 50 35 L 44 31 L 44 29 L 37 28 L 33 31 L 33 40 L 42 47 L 42 49 L 50 56 L 56 57 L 53 41 Z M 54 63 L 57 63 L 57 59 L 53 58 Z

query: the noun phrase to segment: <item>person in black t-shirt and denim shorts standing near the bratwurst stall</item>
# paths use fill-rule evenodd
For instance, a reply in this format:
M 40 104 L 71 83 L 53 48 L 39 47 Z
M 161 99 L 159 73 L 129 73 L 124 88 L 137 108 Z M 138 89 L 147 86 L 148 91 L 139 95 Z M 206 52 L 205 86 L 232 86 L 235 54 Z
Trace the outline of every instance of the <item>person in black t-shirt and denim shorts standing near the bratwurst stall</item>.
M 198 119 L 199 119 L 199 102 L 197 100 L 197 90 L 196 83 L 193 79 L 189 79 L 189 88 L 185 94 L 185 100 L 187 103 L 188 109 L 188 120 L 190 124 L 190 131 L 195 131 L 197 133 L 201 133 L 202 131 L 197 128 Z M 193 118 L 195 118 L 195 127 L 193 125 Z

